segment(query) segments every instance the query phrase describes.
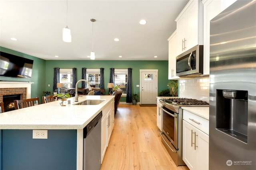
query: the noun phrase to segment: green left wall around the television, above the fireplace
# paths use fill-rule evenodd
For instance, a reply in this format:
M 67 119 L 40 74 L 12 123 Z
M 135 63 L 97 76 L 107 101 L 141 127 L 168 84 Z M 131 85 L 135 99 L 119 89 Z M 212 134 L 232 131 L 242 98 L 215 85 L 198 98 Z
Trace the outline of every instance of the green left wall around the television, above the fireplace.
M 43 59 L 39 59 L 37 57 L 33 57 L 31 55 L 20 53 L 18 51 L 10 50 L 4 47 L 0 47 L 0 51 L 9 53 L 12 55 L 24 57 L 26 59 L 34 60 L 31 78 L 16 78 L 16 77 L 12 78 L 12 77 L 0 76 L 0 80 L 34 82 L 33 84 L 31 84 L 31 98 L 38 97 L 40 99 L 40 102 L 42 103 L 42 96 L 43 96 L 42 92 L 45 90 L 46 61 Z

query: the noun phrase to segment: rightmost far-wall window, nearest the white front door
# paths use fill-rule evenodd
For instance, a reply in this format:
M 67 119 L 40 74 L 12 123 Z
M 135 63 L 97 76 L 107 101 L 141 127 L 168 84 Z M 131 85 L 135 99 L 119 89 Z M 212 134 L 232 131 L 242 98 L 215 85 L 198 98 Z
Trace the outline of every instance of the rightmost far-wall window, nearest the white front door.
M 115 69 L 115 85 L 118 85 L 126 94 L 128 69 Z

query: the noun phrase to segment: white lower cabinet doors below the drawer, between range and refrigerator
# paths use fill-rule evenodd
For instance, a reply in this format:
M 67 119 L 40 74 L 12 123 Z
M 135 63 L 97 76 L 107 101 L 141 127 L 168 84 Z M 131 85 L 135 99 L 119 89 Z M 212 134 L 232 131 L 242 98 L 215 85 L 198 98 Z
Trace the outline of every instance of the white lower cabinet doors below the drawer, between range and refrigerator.
M 209 169 L 209 135 L 183 120 L 182 159 L 190 170 Z

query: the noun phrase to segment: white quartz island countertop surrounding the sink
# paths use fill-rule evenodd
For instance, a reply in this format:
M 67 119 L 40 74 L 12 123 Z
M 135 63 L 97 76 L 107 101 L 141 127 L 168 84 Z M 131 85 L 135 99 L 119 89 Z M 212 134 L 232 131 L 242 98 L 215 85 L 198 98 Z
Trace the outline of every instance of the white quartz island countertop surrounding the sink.
M 114 96 L 79 96 L 78 102 L 60 106 L 59 101 L 0 113 L 0 129 L 83 129 Z M 102 99 L 98 105 L 74 105 Z

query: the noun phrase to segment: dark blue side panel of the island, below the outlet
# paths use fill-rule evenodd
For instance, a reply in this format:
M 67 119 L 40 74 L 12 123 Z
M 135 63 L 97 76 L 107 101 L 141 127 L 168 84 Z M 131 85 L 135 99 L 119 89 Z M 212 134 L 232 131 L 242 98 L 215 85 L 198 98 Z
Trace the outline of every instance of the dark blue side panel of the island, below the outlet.
M 2 130 L 1 153 L 1 170 L 76 170 L 76 130 L 48 130 L 48 139 L 32 139 L 32 130 Z

